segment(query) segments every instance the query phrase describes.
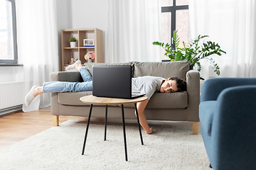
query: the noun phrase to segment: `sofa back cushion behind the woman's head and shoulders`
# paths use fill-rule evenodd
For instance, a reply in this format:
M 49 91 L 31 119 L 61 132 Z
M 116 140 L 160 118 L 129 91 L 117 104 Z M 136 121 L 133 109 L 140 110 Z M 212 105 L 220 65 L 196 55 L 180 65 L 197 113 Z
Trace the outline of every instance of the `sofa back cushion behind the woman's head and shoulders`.
M 180 77 L 186 80 L 186 72 L 189 70 L 189 62 L 134 62 L 134 77 L 154 76 Z

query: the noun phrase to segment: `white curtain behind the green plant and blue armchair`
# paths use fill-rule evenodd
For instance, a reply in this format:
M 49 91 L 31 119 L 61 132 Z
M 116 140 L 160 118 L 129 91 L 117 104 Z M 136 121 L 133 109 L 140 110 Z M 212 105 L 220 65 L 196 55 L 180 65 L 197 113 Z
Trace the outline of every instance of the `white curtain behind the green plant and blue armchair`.
M 189 1 L 191 38 L 209 35 L 226 55 L 213 57 L 220 77 L 256 77 L 256 1 Z M 202 61 L 201 77 L 218 77 L 207 61 Z

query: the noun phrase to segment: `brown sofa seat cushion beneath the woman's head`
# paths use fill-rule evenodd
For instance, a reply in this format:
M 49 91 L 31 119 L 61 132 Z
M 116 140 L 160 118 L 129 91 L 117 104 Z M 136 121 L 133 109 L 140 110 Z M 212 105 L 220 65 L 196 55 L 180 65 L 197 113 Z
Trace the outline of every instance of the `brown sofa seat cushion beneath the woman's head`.
M 126 108 L 134 108 L 134 104 L 125 104 Z M 154 93 L 146 108 L 186 108 L 188 107 L 188 93 Z

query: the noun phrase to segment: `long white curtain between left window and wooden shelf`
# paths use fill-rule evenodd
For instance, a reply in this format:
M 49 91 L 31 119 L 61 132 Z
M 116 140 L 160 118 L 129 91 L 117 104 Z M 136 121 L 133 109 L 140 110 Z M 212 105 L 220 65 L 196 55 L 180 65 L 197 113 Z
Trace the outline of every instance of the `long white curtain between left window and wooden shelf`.
M 58 30 L 55 0 L 17 0 L 18 57 L 23 60 L 24 93 L 50 81 L 58 71 Z M 50 94 L 37 96 L 23 111 L 50 106 Z

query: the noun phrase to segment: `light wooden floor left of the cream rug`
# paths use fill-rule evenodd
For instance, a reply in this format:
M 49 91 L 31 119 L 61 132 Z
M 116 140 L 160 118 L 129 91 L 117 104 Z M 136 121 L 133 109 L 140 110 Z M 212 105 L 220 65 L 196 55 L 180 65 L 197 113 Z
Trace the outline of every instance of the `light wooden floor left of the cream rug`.
M 60 123 L 66 120 L 87 120 L 87 118 L 75 116 L 60 116 Z M 43 130 L 53 127 L 53 115 L 50 107 L 39 111 L 23 113 L 23 111 L 0 117 L 0 149 L 14 145 Z

